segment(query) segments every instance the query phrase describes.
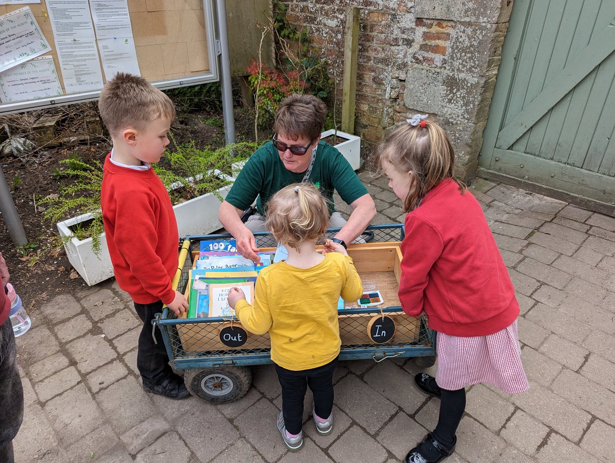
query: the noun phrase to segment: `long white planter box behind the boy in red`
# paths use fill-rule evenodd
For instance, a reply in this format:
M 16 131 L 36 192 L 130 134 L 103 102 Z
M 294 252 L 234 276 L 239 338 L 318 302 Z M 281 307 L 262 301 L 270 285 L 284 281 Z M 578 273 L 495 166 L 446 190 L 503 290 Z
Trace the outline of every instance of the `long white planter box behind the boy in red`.
M 233 180 L 229 176 L 225 177 L 227 180 Z M 218 189 L 218 192 L 224 198 L 230 189 L 231 185 Z M 180 238 L 187 235 L 204 235 L 222 228 L 222 224 L 218 221 L 220 204 L 220 199 L 213 193 L 208 193 L 173 206 Z M 91 217 L 91 214 L 83 214 L 58 222 L 60 236 L 73 236 L 69 227 L 89 220 Z M 92 249 L 92 238 L 79 240 L 73 236 L 66 242 L 64 248 L 68 261 L 87 285 L 92 286 L 113 277 L 113 266 L 104 233 L 100 235 L 99 255 L 96 255 Z

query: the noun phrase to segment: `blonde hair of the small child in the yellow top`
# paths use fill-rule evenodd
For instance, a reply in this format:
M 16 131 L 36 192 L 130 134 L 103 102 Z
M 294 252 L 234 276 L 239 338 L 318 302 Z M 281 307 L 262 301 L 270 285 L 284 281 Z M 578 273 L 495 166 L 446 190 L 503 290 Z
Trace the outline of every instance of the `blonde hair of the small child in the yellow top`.
M 267 203 L 265 226 L 285 246 L 320 239 L 328 224 L 327 201 L 310 183 L 288 185 Z

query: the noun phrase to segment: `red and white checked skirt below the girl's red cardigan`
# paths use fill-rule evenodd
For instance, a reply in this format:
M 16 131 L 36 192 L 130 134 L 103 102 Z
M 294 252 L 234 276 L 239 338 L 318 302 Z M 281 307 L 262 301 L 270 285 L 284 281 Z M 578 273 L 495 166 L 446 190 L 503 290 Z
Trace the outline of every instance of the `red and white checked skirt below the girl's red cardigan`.
M 488 336 L 464 338 L 437 333 L 438 371 L 435 382 L 442 389 L 488 382 L 508 394 L 530 387 L 521 364 L 517 320 Z

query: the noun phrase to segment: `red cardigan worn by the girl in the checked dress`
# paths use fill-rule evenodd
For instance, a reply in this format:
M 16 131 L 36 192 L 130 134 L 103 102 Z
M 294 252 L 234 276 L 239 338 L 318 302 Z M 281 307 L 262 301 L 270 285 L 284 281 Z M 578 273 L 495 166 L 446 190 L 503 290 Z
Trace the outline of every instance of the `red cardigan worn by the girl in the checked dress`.
M 515 288 L 480 204 L 449 179 L 408 213 L 399 299 L 403 311 L 453 336 L 485 336 L 519 315 Z

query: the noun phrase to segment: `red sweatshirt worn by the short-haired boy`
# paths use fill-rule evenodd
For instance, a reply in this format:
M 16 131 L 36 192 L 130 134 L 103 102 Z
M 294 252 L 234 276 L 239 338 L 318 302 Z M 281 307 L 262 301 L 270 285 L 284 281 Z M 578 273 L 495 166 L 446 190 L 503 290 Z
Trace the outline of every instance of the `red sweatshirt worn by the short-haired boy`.
M 100 192 L 117 284 L 138 304 L 173 301 L 179 235 L 164 184 L 152 169 L 114 165 L 108 154 Z

